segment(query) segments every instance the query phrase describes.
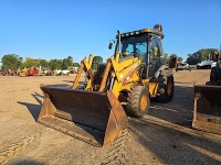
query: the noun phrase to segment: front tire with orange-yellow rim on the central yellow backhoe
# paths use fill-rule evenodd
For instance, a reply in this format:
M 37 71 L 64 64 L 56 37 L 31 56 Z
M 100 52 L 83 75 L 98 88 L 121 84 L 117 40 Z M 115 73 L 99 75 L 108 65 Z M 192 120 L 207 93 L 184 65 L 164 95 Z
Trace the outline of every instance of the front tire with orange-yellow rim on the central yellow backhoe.
M 144 86 L 134 87 L 128 97 L 128 103 L 127 103 L 128 114 L 131 117 L 140 118 L 148 112 L 149 105 L 150 105 L 150 99 L 149 99 L 148 88 Z

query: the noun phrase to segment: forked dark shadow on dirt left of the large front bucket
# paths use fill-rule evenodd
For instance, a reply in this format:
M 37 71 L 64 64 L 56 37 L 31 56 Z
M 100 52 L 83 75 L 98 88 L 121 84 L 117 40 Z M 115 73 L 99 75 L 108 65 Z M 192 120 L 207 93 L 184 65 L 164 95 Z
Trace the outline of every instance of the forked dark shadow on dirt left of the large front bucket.
M 21 101 L 18 101 L 18 103 L 25 106 L 28 108 L 28 110 L 30 111 L 30 113 L 32 114 L 33 119 L 35 121 L 38 121 L 39 113 L 40 113 L 40 110 L 41 110 L 41 107 L 42 107 L 42 99 L 44 98 L 44 96 L 40 95 L 38 92 L 34 92 L 34 94 L 31 94 L 31 95 L 38 101 L 39 105 L 21 102 Z

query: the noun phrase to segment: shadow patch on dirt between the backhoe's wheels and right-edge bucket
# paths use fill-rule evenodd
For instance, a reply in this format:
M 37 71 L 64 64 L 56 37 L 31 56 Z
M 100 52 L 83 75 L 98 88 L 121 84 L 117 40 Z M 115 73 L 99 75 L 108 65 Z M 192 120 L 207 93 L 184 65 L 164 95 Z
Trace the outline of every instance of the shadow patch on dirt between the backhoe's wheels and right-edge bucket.
M 193 87 L 175 86 L 173 99 L 167 103 L 151 101 L 148 114 L 189 128 L 192 121 L 193 102 Z

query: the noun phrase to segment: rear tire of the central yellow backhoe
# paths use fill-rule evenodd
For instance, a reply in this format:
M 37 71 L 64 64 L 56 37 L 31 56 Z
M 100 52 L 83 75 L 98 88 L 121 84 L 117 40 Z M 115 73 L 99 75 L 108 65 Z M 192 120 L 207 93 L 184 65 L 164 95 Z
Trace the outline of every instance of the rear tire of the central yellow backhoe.
M 169 102 L 173 98 L 173 91 L 175 91 L 173 76 L 171 75 L 171 76 L 165 77 L 165 79 L 166 80 L 164 85 L 161 85 L 161 88 L 164 88 L 165 92 L 154 98 L 154 100 L 157 102 Z

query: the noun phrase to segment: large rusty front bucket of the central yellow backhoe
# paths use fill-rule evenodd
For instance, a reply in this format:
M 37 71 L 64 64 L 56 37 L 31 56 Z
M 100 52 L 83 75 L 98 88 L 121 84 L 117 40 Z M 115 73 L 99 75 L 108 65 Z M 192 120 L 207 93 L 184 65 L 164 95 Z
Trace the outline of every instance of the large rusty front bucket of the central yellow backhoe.
M 104 146 L 125 129 L 127 116 L 112 92 L 41 86 L 44 101 L 38 122 L 86 143 Z

